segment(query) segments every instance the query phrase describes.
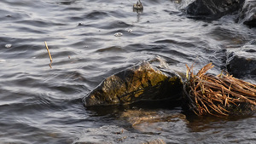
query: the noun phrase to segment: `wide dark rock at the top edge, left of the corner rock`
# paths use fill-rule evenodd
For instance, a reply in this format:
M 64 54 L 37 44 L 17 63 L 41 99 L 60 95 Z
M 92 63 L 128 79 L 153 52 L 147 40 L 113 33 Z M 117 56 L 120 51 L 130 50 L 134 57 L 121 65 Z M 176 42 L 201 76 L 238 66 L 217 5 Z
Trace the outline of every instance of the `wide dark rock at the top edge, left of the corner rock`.
M 245 0 L 195 0 L 186 8 L 191 18 L 217 20 L 241 9 Z

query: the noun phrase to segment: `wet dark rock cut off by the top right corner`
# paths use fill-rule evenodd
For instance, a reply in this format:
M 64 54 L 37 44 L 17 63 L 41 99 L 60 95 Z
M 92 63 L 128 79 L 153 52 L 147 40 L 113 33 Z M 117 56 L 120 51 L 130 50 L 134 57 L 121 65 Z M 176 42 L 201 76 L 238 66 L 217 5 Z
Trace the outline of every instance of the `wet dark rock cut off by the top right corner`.
M 239 22 L 256 27 L 256 0 L 247 0 L 244 3 L 239 14 Z

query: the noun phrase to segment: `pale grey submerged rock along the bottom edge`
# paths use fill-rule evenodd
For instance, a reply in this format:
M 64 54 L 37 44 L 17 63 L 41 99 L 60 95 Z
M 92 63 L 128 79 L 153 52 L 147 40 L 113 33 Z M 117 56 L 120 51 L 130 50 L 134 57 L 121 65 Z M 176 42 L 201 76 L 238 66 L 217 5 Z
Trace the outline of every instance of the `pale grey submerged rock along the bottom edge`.
M 100 128 L 84 130 L 78 141 L 74 144 L 111 144 L 111 143 L 137 143 L 137 144 L 166 144 L 158 135 L 145 135 L 132 133 L 116 125 L 105 125 Z

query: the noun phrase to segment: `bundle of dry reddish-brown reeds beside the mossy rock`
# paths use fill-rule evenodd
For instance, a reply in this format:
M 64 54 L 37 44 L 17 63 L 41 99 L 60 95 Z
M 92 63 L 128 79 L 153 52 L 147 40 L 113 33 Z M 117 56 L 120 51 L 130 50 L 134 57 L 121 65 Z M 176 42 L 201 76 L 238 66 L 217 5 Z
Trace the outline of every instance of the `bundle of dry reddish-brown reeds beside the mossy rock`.
M 253 111 L 256 85 L 233 78 L 228 73 L 218 76 L 207 74 L 212 67 L 209 63 L 195 75 L 193 66 L 187 66 L 188 82 L 184 85 L 184 93 L 189 100 L 189 108 L 197 115 L 215 116 L 229 116 L 243 109 Z

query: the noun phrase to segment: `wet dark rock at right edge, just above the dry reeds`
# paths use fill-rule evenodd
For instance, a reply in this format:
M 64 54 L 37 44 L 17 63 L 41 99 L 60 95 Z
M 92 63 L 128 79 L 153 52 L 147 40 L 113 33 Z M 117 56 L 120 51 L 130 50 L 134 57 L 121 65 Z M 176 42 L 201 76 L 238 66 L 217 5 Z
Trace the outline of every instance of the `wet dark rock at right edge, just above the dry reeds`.
M 228 49 L 227 69 L 236 78 L 256 76 L 256 51 L 253 48 Z

